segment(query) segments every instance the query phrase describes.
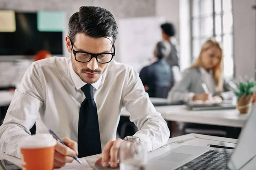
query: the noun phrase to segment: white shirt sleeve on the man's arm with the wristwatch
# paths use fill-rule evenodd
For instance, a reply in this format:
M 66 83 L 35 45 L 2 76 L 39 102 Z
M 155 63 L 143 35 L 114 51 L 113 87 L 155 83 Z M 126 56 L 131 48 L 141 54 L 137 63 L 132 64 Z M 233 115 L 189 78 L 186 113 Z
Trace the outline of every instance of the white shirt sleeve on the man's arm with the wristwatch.
M 143 84 L 134 69 L 126 77 L 123 106 L 130 113 L 130 120 L 139 131 L 134 136 L 147 143 L 148 151 L 165 144 L 170 136 L 166 121 L 157 113 Z

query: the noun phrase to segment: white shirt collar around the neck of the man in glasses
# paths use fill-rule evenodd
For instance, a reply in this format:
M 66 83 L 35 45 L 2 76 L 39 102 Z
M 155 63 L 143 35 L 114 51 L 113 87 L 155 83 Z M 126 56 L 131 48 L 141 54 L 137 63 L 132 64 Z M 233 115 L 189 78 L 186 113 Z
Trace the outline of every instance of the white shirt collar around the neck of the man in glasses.
M 87 84 L 86 82 L 83 82 L 81 80 L 81 78 L 79 77 L 79 75 L 77 75 L 76 72 L 74 71 L 74 69 L 72 67 L 71 59 L 69 62 L 69 69 L 70 69 L 70 76 L 71 76 L 77 90 Z M 98 81 L 96 81 L 95 83 L 92 83 L 91 85 L 93 86 L 93 88 L 96 88 L 96 90 L 97 90 L 99 88 L 101 81 L 102 81 L 102 75 L 99 77 Z

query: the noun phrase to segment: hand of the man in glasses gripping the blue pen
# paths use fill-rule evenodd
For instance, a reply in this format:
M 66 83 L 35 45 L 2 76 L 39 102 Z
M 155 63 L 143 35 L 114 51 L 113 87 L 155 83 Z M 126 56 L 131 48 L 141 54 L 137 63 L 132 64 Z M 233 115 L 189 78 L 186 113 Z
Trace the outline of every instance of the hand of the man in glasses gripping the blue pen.
M 67 137 L 61 139 L 65 144 L 57 142 L 54 152 L 54 168 L 60 168 L 65 166 L 67 162 L 72 162 L 74 156 L 78 155 L 77 143 Z

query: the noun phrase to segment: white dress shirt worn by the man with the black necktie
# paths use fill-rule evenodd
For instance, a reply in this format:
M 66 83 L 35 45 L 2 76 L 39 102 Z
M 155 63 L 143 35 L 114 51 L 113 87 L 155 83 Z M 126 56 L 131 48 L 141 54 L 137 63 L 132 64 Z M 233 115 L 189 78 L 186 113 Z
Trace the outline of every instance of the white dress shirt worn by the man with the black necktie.
M 52 129 L 58 136 L 77 142 L 79 109 L 85 99 L 81 87 L 85 84 L 73 70 L 70 58 L 51 57 L 33 62 L 15 90 L 0 127 L 0 150 L 20 158 L 19 141 L 30 135 L 35 121 L 36 133 Z M 155 110 L 133 68 L 113 60 L 92 85 L 102 148 L 116 139 L 124 107 L 139 129 L 134 136 L 147 142 L 148 151 L 168 141 L 166 122 Z

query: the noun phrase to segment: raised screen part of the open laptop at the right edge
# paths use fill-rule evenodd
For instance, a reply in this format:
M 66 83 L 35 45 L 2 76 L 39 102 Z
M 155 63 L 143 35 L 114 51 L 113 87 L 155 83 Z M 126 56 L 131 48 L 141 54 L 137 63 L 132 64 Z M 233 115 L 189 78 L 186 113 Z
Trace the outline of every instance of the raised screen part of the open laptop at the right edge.
M 231 170 L 239 170 L 254 156 L 256 156 L 256 104 L 252 106 L 250 116 L 242 128 L 228 167 Z

